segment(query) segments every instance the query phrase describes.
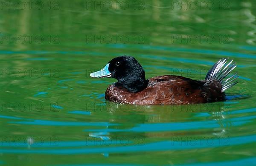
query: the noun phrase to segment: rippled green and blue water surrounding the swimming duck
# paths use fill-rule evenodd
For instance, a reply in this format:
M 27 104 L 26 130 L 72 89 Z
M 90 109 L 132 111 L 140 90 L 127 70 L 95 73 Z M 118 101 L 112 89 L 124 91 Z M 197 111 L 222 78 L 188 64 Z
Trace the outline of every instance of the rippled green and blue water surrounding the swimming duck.
M 256 164 L 253 0 L 20 2 L 0 10 L 0 165 Z M 204 79 L 230 57 L 239 84 L 224 102 L 111 103 L 115 80 L 89 73 L 124 54 L 147 78 Z

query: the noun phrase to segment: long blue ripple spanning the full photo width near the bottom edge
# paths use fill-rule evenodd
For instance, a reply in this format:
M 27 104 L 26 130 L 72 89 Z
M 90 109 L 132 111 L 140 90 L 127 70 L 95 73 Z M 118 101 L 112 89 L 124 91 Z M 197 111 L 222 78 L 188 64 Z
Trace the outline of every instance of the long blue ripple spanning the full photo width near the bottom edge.
M 111 140 L 110 140 L 111 141 Z M 80 148 L 80 149 L 0 149 L 0 153 L 19 153 L 19 154 L 55 154 L 55 155 L 74 155 L 74 154 L 93 154 L 93 153 L 127 153 L 127 152 L 151 152 L 182 149 L 205 149 L 213 147 L 228 147 L 256 142 L 256 135 L 247 135 L 241 137 L 231 137 L 226 140 L 222 138 L 202 138 L 200 141 L 160 141 L 145 143 L 142 145 L 122 145 L 114 147 L 100 148 Z

